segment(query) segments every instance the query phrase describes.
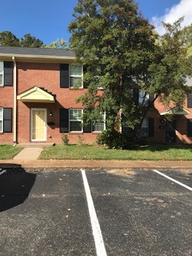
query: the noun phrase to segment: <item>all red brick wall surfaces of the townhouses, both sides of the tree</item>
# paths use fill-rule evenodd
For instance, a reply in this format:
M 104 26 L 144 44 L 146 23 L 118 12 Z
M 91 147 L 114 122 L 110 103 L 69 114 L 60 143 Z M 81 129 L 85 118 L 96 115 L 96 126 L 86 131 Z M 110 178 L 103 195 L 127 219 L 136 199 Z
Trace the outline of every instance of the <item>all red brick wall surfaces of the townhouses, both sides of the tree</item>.
M 29 90 L 34 86 L 44 87 L 52 94 L 56 94 L 56 102 L 54 104 L 45 103 L 23 103 L 18 101 L 18 143 L 30 142 L 30 108 L 46 108 L 47 122 L 54 122 L 54 126 L 47 126 L 47 142 L 62 143 L 62 134 L 59 132 L 59 110 L 61 108 L 82 108 L 80 103 L 75 100 L 84 94 L 86 89 L 71 90 L 69 88 L 60 88 L 60 66 L 59 64 L 50 63 L 30 63 L 18 62 L 18 94 Z M 14 107 L 14 87 L 0 87 L 0 106 Z M 153 108 L 147 114 L 147 117 L 154 118 L 154 137 L 146 138 L 148 142 L 166 142 L 166 124 L 162 122 L 162 113 L 166 107 L 162 105 L 158 99 Z M 184 106 L 186 109 L 186 104 Z M 177 117 L 177 142 L 180 140 L 190 142 L 186 136 L 186 118 L 192 118 L 192 109 L 190 114 Z M 52 116 L 50 116 L 50 111 Z M 67 134 L 70 143 L 78 141 L 78 135 L 82 136 L 82 140 L 86 143 L 94 142 L 98 134 Z M 14 134 L 0 134 L 0 143 L 12 143 Z

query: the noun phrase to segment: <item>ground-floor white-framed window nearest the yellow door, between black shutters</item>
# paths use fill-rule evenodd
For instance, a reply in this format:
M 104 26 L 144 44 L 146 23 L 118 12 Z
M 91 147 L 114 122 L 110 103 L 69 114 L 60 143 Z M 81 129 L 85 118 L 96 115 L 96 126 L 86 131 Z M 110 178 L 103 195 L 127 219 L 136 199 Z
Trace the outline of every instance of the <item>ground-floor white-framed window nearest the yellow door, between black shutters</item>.
M 82 132 L 82 110 L 70 110 L 70 132 Z

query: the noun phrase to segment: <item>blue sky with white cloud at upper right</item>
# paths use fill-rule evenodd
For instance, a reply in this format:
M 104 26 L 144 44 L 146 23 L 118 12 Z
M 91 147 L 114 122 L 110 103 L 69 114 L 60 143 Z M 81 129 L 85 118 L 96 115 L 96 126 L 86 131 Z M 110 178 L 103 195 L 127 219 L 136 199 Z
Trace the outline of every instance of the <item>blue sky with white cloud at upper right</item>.
M 163 34 L 161 22 L 185 16 L 183 26 L 192 23 L 192 0 L 135 0 L 144 18 Z M 10 30 L 17 38 L 31 34 L 50 44 L 58 38 L 69 42 L 67 27 L 73 20 L 78 0 L 0 0 L 0 32 Z

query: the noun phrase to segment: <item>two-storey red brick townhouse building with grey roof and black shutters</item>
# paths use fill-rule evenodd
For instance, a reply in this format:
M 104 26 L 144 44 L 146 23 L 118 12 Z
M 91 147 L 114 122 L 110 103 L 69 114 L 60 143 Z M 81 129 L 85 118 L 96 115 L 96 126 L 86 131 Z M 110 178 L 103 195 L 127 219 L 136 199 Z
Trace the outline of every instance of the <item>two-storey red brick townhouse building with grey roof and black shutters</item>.
M 95 141 L 105 129 L 105 116 L 103 122 L 82 128 L 82 105 L 75 100 L 86 88 L 82 66 L 71 65 L 74 59 L 71 50 L 0 46 L 0 144 L 62 143 L 63 133 L 70 143 L 78 142 L 79 135 L 86 143 Z M 79 88 L 74 90 L 75 83 Z M 191 143 L 190 96 L 182 112 L 174 109 L 175 120 L 169 125 L 161 115 L 167 110 L 156 100 L 142 124 L 142 137 L 149 142 Z

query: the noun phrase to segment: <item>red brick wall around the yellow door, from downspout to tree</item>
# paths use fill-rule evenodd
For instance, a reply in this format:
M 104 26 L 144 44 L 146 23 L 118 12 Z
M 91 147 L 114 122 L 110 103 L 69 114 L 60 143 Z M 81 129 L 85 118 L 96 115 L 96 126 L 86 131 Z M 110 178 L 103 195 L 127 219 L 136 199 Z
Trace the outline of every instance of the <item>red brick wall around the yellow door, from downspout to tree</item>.
M 60 88 L 59 64 L 18 63 L 18 94 L 34 86 L 44 87 L 52 94 L 56 94 L 56 102 L 54 104 L 18 102 L 18 142 L 30 142 L 30 108 L 46 108 L 47 122 L 55 123 L 54 126 L 47 126 L 47 142 L 62 143 L 62 134 L 59 132 L 59 110 L 82 108 L 82 105 L 77 104 L 75 100 L 84 94 L 86 89 Z M 78 135 L 82 136 L 86 143 L 94 142 L 97 137 L 97 134 L 67 135 L 70 143 L 77 142 Z

